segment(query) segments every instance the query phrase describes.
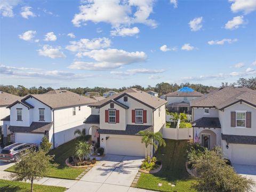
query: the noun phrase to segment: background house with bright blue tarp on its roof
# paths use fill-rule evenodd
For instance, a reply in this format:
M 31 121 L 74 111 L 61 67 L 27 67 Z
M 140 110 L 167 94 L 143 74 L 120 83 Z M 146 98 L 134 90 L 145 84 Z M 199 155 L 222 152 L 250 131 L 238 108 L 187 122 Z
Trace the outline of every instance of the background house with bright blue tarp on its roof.
M 170 112 L 191 114 L 189 102 L 202 95 L 189 87 L 182 87 L 178 91 L 165 94 L 165 99 L 168 102 L 167 109 Z

